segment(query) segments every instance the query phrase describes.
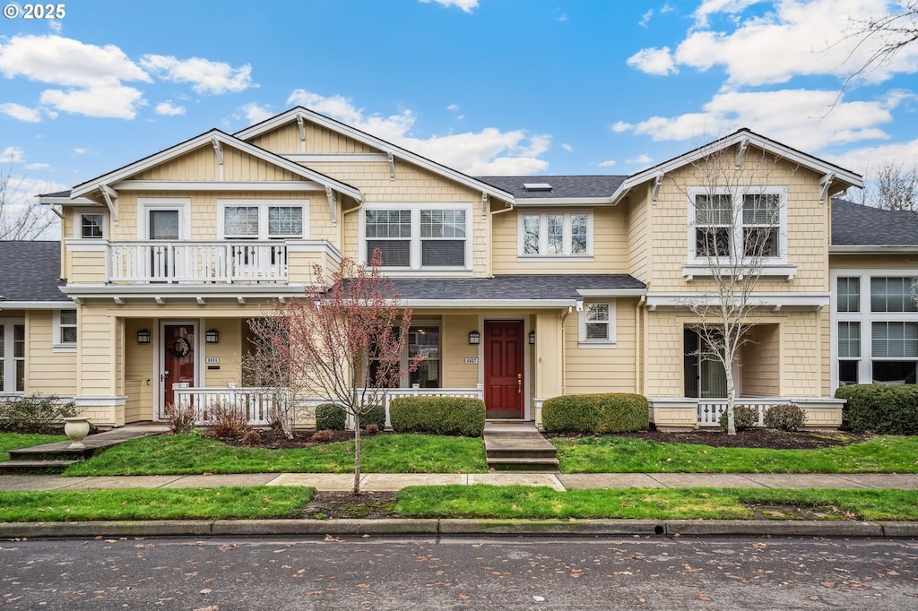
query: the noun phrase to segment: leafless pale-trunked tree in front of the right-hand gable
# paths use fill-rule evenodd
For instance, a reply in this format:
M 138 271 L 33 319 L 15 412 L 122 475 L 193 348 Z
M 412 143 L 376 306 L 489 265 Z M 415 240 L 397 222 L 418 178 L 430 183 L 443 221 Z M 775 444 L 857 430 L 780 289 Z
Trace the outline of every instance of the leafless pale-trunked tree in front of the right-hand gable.
M 684 187 L 695 240 L 689 248 L 706 269 L 699 274 L 704 288 L 683 305 L 699 319 L 693 327 L 700 339 L 695 356 L 723 368 L 730 435 L 736 434 L 733 363 L 750 341 L 749 319 L 760 307 L 756 285 L 783 242 L 785 195 L 768 186 L 778 158 L 756 151 L 750 149 L 737 166 L 733 148 L 711 148 L 694 164 L 699 182 Z

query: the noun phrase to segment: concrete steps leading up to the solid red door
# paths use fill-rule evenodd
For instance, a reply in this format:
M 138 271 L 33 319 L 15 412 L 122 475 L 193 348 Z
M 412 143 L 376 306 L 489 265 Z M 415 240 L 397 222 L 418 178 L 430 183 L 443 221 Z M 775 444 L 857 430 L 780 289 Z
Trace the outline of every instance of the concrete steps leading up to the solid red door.
M 557 450 L 532 422 L 488 422 L 487 466 L 495 471 L 557 472 Z

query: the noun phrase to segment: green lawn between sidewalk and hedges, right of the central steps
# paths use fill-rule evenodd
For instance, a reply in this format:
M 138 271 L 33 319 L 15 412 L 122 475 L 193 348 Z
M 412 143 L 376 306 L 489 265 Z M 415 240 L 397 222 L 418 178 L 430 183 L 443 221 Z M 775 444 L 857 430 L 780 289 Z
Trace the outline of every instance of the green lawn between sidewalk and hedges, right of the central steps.
M 628 437 L 552 439 L 564 473 L 915 473 L 918 437 L 823 450 L 713 448 Z

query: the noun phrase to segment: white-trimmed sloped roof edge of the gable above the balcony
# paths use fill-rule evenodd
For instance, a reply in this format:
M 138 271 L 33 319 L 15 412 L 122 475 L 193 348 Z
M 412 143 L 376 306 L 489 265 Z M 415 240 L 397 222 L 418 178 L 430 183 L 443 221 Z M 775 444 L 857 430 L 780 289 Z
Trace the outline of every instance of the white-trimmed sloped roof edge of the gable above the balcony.
M 309 168 L 299 165 L 294 161 L 286 160 L 280 155 L 271 152 L 270 150 L 264 150 L 261 147 L 257 147 L 250 142 L 246 142 L 245 140 L 238 139 L 235 136 L 231 136 L 217 128 L 210 129 L 209 131 L 206 131 L 199 136 L 187 139 L 184 142 L 180 142 L 168 149 L 153 153 L 152 155 L 144 157 L 139 161 L 129 163 L 128 165 L 122 166 L 117 170 L 113 170 L 112 172 L 97 176 L 96 178 L 85 181 L 84 183 L 77 184 L 73 187 L 73 190 L 71 190 L 70 197 L 73 199 L 75 197 L 80 197 L 81 195 L 92 193 L 96 189 L 99 189 L 102 185 L 111 186 L 114 183 L 125 180 L 133 174 L 149 170 L 150 168 L 160 165 L 165 161 L 173 160 L 174 158 L 180 157 L 185 153 L 210 144 L 214 139 L 218 140 L 218 142 L 221 144 L 229 146 L 233 149 L 248 153 L 252 155 L 252 157 L 273 163 L 277 167 L 282 168 L 288 172 L 292 172 L 297 176 L 301 176 L 307 180 L 315 181 L 316 183 L 322 184 L 323 186 L 330 187 L 341 194 L 350 195 L 353 197 L 353 199 L 357 200 L 357 202 L 364 201 L 364 195 L 360 193 L 360 190 L 351 186 L 350 184 L 341 183 L 341 181 L 331 178 L 326 174 L 310 170 Z

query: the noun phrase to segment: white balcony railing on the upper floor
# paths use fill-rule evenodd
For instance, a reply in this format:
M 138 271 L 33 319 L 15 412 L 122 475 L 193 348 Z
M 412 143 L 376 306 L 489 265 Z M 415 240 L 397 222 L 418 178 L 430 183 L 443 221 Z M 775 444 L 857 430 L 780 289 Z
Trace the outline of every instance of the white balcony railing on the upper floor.
M 108 282 L 286 282 L 287 247 L 274 240 L 116 242 Z

